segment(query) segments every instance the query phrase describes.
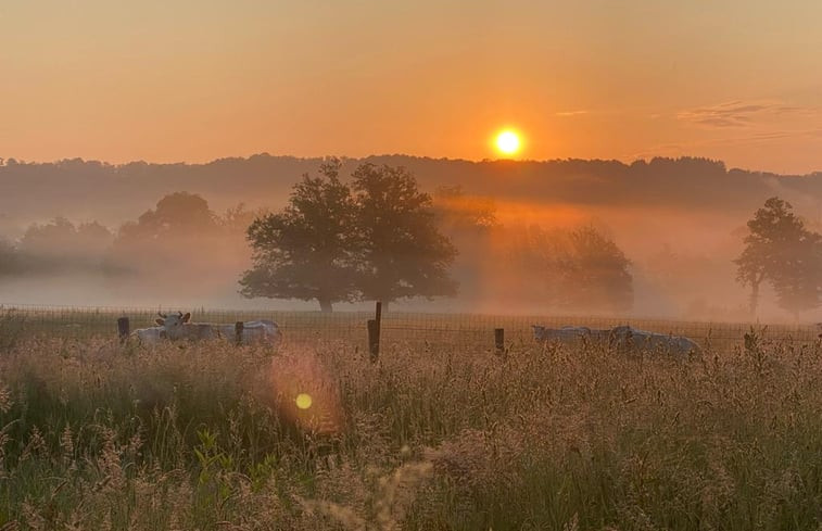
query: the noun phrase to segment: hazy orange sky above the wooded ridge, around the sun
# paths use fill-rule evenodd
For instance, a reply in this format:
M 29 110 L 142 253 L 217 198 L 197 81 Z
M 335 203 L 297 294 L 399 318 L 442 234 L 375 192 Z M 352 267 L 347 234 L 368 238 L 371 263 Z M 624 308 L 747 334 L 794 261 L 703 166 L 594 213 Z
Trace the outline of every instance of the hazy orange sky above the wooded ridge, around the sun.
M 822 1 L 0 0 L 0 156 L 822 170 Z

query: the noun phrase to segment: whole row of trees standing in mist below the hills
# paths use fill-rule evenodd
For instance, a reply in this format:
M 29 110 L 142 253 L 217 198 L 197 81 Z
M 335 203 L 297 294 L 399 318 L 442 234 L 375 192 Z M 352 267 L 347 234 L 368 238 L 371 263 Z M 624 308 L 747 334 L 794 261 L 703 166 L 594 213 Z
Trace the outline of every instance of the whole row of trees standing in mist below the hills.
M 602 230 L 505 226 L 492 200 L 463 187 L 429 194 L 402 166 L 364 163 L 347 181 L 342 168 L 329 159 L 317 176 L 304 174 L 274 213 L 239 204 L 216 214 L 202 197 L 175 192 L 117 230 L 63 217 L 33 224 L 16 242 L 0 240 L 0 276 L 93 269 L 179 283 L 207 276 L 227 256 L 215 276 L 244 268 L 242 295 L 317 301 L 326 312 L 458 291 L 560 311 L 631 308 L 631 261 Z M 780 198 L 768 199 L 747 229 L 734 264 L 750 289 L 750 315 L 764 286 L 797 318 L 819 307 L 822 236 Z

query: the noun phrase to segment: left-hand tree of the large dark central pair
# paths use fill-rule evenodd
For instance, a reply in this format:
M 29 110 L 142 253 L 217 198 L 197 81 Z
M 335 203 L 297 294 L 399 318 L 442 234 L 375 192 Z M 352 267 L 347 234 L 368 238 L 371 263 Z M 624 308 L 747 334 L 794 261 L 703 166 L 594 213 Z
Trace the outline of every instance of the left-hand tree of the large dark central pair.
M 282 212 L 251 224 L 253 267 L 240 280 L 243 295 L 316 300 L 323 312 L 356 296 L 355 207 L 339 170 L 332 160 L 320 177 L 304 175 Z

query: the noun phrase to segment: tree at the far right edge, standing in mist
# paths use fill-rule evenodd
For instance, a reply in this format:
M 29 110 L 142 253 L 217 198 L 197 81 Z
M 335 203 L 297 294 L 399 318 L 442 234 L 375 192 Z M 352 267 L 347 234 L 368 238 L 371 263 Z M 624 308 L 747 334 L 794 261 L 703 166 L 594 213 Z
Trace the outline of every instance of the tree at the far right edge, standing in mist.
M 783 309 L 812 309 L 822 292 L 822 237 L 805 228 L 791 203 L 766 201 L 748 222 L 745 249 L 736 264 L 736 279 L 750 286 L 750 313 L 756 315 L 762 282 L 770 282 Z

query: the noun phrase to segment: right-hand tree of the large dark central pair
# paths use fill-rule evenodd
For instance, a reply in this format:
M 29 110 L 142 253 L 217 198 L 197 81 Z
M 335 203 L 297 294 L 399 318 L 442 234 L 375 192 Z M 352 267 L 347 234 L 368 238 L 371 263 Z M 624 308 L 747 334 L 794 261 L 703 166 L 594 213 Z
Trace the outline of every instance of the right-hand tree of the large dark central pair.
M 353 174 L 359 289 L 366 300 L 453 296 L 448 275 L 457 251 L 440 233 L 431 198 L 403 167 L 361 165 Z

